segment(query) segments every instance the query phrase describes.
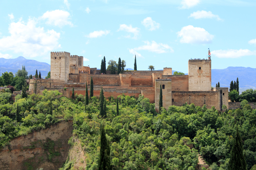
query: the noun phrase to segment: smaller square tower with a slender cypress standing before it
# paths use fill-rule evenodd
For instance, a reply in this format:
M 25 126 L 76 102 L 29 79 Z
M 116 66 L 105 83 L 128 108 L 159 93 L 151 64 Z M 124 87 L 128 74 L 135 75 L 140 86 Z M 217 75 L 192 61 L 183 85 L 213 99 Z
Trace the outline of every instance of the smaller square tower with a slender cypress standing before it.
M 162 87 L 163 93 L 163 107 L 168 109 L 171 106 L 171 79 L 156 79 L 154 87 L 154 101 L 155 109 L 159 112 L 159 95 L 160 95 L 160 86 Z

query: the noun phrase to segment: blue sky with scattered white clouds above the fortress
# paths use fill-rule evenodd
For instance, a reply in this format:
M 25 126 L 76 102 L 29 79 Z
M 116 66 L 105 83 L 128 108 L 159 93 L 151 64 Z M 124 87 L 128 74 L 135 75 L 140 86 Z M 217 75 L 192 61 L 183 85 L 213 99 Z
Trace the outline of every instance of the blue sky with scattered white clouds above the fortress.
M 212 68 L 255 68 L 255 0 L 1 0 L 0 57 L 50 64 L 50 51 L 84 57 L 100 68 L 126 61 L 138 70 L 172 67 L 187 73 L 190 58 Z

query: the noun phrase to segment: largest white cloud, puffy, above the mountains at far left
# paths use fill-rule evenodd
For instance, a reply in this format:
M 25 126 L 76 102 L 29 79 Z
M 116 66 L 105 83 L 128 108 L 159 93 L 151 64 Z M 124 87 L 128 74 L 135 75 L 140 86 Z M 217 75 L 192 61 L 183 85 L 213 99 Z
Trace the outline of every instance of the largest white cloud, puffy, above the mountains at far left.
M 45 31 L 36 27 L 36 21 L 29 19 L 27 23 L 20 20 L 9 25 L 10 36 L 0 39 L 0 50 L 23 53 L 24 57 L 49 55 L 53 49 L 59 48 L 60 33 Z

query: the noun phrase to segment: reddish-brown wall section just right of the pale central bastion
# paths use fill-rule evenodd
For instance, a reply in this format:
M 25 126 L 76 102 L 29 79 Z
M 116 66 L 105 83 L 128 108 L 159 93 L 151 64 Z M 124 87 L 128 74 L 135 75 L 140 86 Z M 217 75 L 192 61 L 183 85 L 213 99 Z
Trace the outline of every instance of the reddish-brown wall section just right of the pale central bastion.
M 151 75 L 131 75 L 131 86 L 153 86 Z

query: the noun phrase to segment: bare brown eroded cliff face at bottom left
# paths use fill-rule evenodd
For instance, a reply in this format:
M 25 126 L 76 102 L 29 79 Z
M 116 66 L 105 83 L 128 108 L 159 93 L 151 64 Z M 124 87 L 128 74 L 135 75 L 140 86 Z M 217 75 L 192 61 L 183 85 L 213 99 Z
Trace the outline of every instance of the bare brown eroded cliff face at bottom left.
M 69 155 L 72 122 L 13 139 L 0 151 L 0 170 L 58 170 Z

